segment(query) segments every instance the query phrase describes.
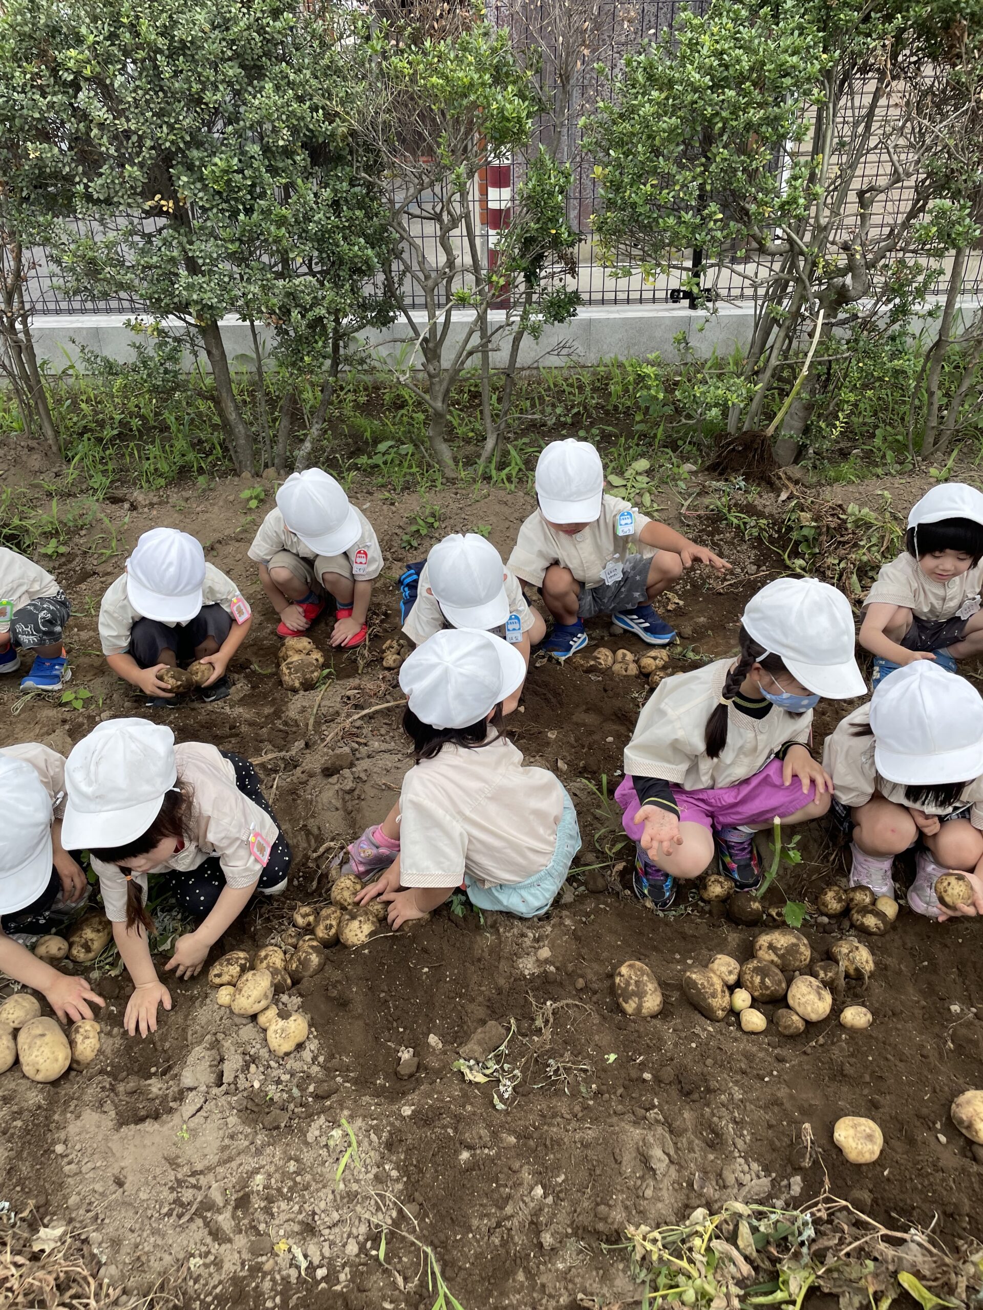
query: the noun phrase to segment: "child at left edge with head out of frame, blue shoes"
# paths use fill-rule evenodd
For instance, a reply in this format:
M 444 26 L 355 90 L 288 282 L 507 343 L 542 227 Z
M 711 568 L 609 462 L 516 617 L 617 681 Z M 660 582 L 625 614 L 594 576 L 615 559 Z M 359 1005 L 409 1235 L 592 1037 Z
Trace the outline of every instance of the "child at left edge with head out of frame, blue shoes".
M 0 673 L 16 673 L 21 651 L 31 651 L 34 663 L 21 686 L 60 690 L 72 676 L 62 641 L 71 612 L 68 597 L 47 570 L 0 546 Z

